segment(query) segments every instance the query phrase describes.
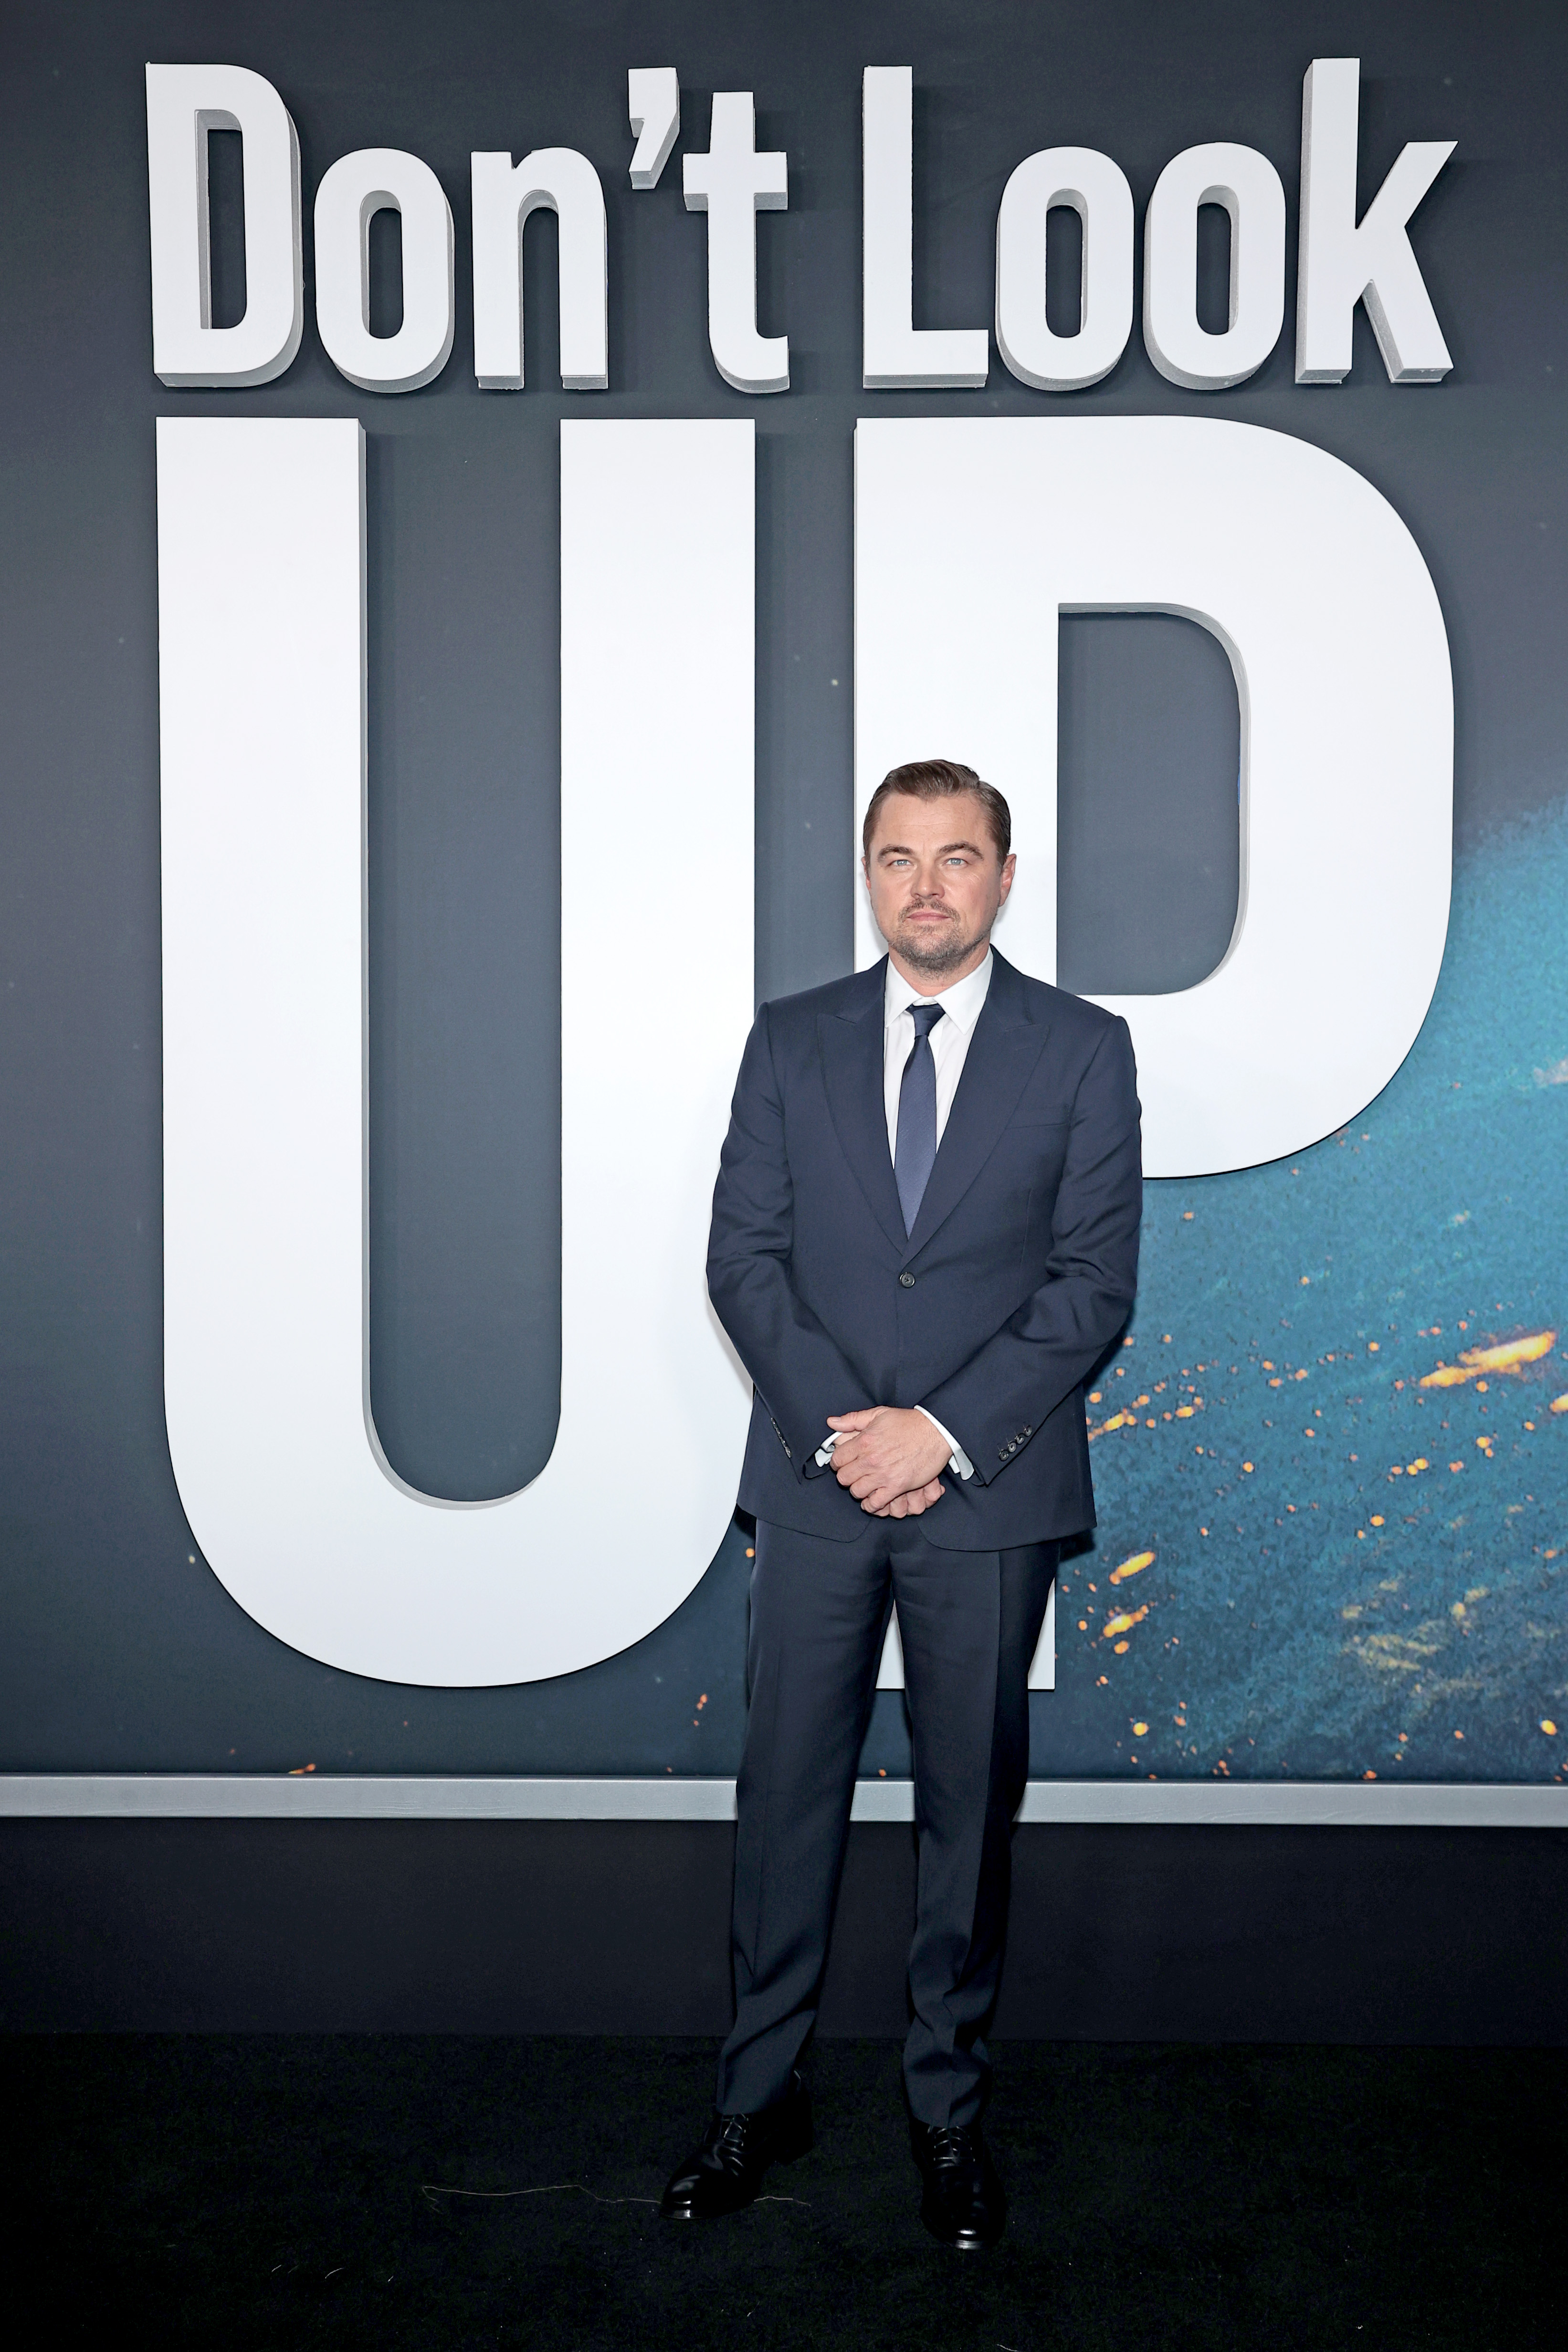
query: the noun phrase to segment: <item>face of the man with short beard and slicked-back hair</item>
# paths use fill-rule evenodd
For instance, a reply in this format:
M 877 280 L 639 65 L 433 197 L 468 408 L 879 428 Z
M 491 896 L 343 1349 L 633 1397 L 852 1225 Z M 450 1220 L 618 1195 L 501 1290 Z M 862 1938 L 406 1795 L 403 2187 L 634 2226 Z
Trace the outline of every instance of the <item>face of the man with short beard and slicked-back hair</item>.
M 957 974 L 990 938 L 1013 887 L 973 793 L 914 800 L 889 793 L 865 858 L 877 929 L 926 978 Z

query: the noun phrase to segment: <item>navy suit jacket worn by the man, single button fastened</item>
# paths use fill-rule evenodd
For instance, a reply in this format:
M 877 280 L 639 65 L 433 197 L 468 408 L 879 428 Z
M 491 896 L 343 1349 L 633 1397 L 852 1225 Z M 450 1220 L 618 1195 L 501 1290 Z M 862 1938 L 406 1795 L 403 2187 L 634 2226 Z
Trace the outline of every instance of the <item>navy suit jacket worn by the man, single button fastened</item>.
M 827 1414 L 924 1404 L 971 1479 L 919 1522 L 947 1550 L 1093 1526 L 1084 1381 L 1138 1279 L 1126 1021 L 1001 955 L 905 1235 L 886 1136 L 886 960 L 764 1004 L 712 1197 L 708 1291 L 755 1383 L 741 1508 L 849 1541 Z

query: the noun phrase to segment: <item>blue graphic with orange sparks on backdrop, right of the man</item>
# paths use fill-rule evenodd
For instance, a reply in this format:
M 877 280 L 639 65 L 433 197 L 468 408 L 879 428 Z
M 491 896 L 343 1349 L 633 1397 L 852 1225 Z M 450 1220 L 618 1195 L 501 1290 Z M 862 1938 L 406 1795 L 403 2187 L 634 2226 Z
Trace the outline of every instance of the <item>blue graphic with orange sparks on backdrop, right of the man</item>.
M 1034 1773 L 1563 1778 L 1566 917 L 1561 802 L 1460 863 L 1371 1110 L 1147 1188 Z

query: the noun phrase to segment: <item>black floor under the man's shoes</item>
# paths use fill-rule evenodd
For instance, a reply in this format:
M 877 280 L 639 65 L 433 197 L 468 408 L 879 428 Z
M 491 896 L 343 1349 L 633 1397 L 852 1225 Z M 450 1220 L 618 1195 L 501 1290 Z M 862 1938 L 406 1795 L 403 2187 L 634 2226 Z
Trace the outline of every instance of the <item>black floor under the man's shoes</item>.
M 682 2230 L 654 2199 L 712 2044 L 14 2037 L 7 2300 L 31 2281 L 35 2343 L 212 2352 L 1568 2340 L 1563 2051 L 999 2060 L 1013 2220 L 961 2258 L 919 2230 L 884 2042 L 818 2046 L 778 2197 Z

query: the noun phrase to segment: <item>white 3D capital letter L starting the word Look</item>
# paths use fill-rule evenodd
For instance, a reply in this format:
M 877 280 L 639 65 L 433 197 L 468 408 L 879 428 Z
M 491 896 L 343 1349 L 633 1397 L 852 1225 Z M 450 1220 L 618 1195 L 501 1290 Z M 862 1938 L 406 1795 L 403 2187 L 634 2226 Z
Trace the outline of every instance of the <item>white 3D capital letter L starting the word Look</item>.
M 985 327 L 914 327 L 914 68 L 867 66 L 860 108 L 860 381 L 976 390 L 990 374 Z

